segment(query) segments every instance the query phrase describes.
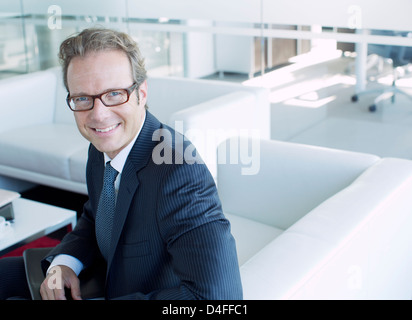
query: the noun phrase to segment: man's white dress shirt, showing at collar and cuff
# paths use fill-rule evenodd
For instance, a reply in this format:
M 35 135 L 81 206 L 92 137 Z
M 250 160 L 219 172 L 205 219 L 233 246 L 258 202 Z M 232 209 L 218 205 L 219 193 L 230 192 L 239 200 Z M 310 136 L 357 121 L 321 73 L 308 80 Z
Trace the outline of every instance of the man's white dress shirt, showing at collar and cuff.
M 116 181 L 114 182 L 116 195 L 117 195 L 117 192 L 119 191 L 120 180 L 121 180 L 124 164 L 126 163 L 126 159 L 129 156 L 130 150 L 132 150 L 132 147 L 134 143 L 136 142 L 136 139 L 139 136 L 140 131 L 143 128 L 145 120 L 146 120 L 146 113 L 143 119 L 142 126 L 140 127 L 140 130 L 137 133 L 136 137 L 134 137 L 134 139 L 124 149 L 122 149 L 119 152 L 119 154 L 116 157 L 114 157 L 114 159 L 110 159 L 110 157 L 104 153 L 104 165 L 106 166 L 106 163 L 108 161 L 111 161 L 110 164 L 112 165 L 112 167 L 116 169 L 117 172 L 119 172 L 119 174 L 117 175 Z M 59 254 L 55 256 L 47 272 L 49 272 L 49 270 L 52 267 L 57 266 L 57 265 L 64 265 L 64 266 L 71 268 L 76 273 L 76 275 L 79 275 L 80 272 L 83 270 L 83 263 L 77 258 L 67 255 L 67 254 Z

